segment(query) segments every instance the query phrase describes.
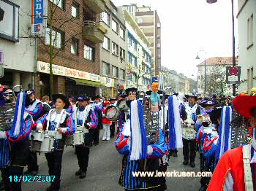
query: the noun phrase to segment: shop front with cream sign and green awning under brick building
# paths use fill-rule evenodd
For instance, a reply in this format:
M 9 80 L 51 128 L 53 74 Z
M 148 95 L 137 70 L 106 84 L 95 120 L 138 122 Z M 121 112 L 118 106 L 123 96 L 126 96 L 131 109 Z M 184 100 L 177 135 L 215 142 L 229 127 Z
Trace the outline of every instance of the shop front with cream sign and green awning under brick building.
M 38 61 L 37 71 L 40 76 L 40 79 L 37 80 L 39 91 L 41 91 L 41 95 L 45 95 L 45 93 L 49 93 L 49 85 L 46 84 L 49 84 L 50 64 Z M 99 94 L 100 78 L 97 74 L 53 64 L 53 81 L 54 93 L 71 96 Z

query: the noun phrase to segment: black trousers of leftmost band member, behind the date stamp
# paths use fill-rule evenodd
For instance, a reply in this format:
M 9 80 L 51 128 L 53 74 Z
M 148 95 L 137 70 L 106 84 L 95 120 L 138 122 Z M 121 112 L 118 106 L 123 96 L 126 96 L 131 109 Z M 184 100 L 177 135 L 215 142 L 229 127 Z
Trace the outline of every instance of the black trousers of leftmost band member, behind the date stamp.
M 15 176 L 23 175 L 23 167 L 10 165 L 7 168 L 1 168 L 1 176 L 3 178 L 6 191 L 21 191 L 21 182 L 15 180 Z M 12 176 L 12 179 L 10 179 Z M 19 179 L 19 178 L 18 178 Z

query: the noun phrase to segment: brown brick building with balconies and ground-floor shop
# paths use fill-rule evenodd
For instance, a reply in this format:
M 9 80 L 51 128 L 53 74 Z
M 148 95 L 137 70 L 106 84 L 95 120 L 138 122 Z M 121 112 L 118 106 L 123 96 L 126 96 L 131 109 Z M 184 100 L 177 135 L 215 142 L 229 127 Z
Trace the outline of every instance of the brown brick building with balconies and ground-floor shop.
M 54 47 L 54 93 L 99 93 L 99 43 L 103 42 L 105 33 L 99 14 L 104 11 L 105 3 L 106 0 L 61 0 L 56 4 L 48 0 L 48 28 L 45 37 L 37 40 L 38 95 L 50 93 L 50 39 Z

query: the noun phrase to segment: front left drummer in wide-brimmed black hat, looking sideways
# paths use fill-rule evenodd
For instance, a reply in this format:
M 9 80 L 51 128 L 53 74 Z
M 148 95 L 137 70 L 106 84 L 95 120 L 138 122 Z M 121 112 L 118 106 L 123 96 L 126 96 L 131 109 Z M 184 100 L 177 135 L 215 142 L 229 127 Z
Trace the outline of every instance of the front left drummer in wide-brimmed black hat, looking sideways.
M 49 114 L 45 114 L 39 120 L 37 120 L 37 130 L 45 130 L 47 128 L 48 120 L 49 127 L 48 130 L 58 130 L 62 133 L 62 139 L 55 140 L 55 149 L 53 152 L 45 153 L 46 160 L 48 162 L 49 175 L 55 176 L 53 182 L 51 182 L 50 187 L 47 190 L 59 190 L 61 183 L 61 161 L 65 145 L 65 139 L 67 135 L 72 135 L 75 133 L 75 126 L 72 122 L 72 117 L 65 111 L 69 107 L 69 100 L 63 94 L 52 95 L 53 101 L 55 103 L 56 109 L 51 109 Z M 50 115 L 50 116 L 49 116 Z M 59 127 L 56 125 L 59 124 Z

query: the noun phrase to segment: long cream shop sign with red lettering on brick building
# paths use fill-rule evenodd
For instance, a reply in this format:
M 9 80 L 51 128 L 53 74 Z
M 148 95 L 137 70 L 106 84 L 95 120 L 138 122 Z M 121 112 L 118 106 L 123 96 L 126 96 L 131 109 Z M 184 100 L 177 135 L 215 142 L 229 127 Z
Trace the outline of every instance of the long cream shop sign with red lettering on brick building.
M 50 63 L 45 63 L 37 61 L 37 71 L 50 74 Z M 100 76 L 97 74 L 91 74 L 86 71 L 80 71 L 75 69 L 69 69 L 64 66 L 58 66 L 53 64 L 53 75 L 63 76 L 63 77 L 73 77 L 78 79 L 86 79 L 94 82 L 100 81 Z

